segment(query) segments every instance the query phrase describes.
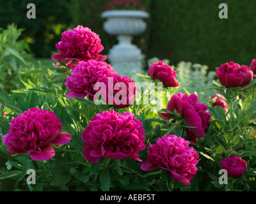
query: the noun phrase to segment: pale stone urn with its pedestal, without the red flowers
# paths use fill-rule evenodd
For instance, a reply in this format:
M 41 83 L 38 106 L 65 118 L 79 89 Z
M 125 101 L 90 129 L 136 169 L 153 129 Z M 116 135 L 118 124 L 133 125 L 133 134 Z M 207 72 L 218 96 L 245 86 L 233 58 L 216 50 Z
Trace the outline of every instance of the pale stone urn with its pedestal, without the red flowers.
M 132 38 L 147 29 L 143 18 L 148 18 L 148 13 L 140 10 L 109 10 L 104 11 L 101 17 L 107 19 L 104 22 L 106 33 L 117 36 L 118 40 L 118 44 L 107 54 L 111 66 L 118 75 L 131 77 L 140 72 L 145 55 L 132 44 Z

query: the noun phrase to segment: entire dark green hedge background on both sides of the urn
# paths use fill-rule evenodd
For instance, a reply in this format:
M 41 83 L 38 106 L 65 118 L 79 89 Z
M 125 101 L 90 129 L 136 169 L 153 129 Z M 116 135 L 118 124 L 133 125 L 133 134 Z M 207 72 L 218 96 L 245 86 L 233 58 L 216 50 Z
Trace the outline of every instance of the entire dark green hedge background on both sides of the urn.
M 100 18 L 102 5 L 108 0 L 42 1 L 36 4 L 36 19 L 26 18 L 26 4 L 31 1 L 0 0 L 0 27 L 12 22 L 26 29 L 24 37 L 32 38 L 31 50 L 36 57 L 50 57 L 60 33 L 80 24 L 100 35 L 108 54 L 115 45 Z M 255 0 L 141 0 L 150 18 L 147 31 L 134 38 L 147 55 L 179 61 L 206 64 L 210 70 L 228 61 L 249 65 L 256 57 Z M 228 19 L 220 19 L 220 3 L 228 5 Z M 52 46 L 53 45 L 53 46 Z

